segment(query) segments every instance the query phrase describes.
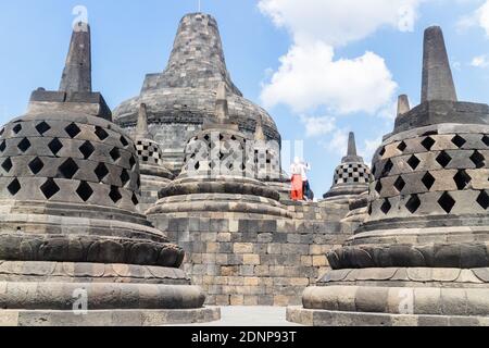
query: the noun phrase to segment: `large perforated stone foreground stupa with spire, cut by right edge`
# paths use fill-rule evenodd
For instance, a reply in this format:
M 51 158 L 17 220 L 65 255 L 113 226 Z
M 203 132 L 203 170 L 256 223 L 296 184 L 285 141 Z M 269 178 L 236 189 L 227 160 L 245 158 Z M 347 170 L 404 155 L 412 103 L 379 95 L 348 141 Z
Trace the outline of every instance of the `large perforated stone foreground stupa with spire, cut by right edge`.
M 290 308 L 310 325 L 489 324 L 489 107 L 460 102 L 439 27 L 422 103 L 406 97 L 373 160 L 368 219 Z

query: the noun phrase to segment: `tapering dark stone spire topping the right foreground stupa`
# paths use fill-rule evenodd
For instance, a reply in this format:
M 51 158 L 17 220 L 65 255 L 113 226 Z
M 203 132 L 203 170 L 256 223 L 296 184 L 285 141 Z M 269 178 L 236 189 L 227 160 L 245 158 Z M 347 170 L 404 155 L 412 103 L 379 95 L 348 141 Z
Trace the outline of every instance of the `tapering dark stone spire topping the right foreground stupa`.
M 443 33 L 439 26 L 427 28 L 424 38 L 422 102 L 431 100 L 456 101 Z

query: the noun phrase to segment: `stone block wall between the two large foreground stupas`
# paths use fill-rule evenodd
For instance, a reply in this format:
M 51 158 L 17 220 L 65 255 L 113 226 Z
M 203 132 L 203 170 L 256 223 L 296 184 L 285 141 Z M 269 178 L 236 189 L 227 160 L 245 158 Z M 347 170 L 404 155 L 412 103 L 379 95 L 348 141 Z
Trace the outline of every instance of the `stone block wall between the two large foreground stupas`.
M 155 227 L 187 252 L 185 271 L 216 306 L 294 306 L 329 270 L 326 252 L 355 224 L 348 206 L 285 202 L 294 219 L 233 213 L 153 215 Z

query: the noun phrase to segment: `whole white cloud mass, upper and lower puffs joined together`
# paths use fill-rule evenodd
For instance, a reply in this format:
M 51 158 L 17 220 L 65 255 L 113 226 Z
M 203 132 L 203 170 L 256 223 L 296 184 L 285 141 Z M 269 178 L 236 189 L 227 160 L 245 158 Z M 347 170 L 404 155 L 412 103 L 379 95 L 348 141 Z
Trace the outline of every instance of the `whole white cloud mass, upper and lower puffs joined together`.
M 296 113 L 322 107 L 339 115 L 385 113 L 398 87 L 385 60 L 374 52 L 342 59 L 335 48 L 383 27 L 413 30 L 423 1 L 260 0 L 260 10 L 293 39 L 279 69 L 263 85 L 263 103 L 286 104 Z

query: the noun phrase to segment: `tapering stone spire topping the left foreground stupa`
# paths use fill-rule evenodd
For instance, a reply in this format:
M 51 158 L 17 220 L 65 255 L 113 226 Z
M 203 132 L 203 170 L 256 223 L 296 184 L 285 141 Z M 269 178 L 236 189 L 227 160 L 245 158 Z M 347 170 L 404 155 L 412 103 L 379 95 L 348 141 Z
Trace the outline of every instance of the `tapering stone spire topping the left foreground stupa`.
M 91 92 L 90 26 L 79 22 L 72 34 L 60 91 Z

